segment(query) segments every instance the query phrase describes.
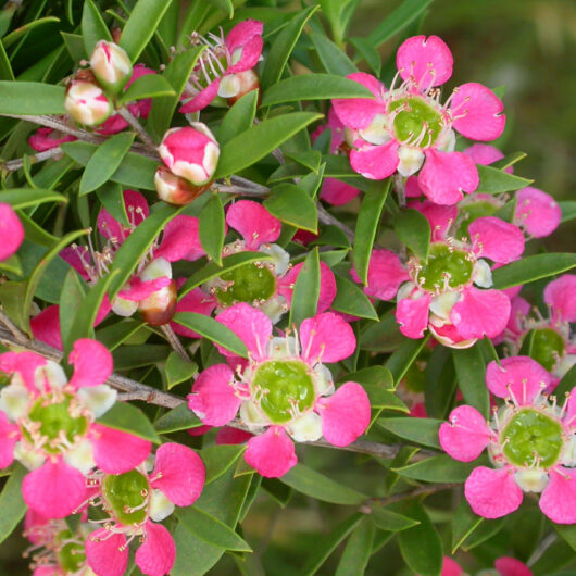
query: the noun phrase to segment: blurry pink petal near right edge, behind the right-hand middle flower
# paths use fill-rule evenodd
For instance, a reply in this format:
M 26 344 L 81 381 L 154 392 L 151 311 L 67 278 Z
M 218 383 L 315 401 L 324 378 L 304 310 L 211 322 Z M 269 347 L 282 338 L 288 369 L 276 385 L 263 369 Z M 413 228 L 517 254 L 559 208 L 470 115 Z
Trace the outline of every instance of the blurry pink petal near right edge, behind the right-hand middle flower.
M 514 221 L 535 238 L 550 236 L 562 220 L 558 202 L 538 188 L 523 188 L 516 192 L 518 203 Z

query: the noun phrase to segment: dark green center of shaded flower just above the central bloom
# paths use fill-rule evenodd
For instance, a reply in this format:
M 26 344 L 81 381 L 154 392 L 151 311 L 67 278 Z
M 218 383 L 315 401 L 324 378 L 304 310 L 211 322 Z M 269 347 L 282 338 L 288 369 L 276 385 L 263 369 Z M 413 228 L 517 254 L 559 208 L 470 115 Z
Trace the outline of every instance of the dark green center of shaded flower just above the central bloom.
M 223 306 L 237 302 L 265 302 L 276 291 L 276 278 L 266 267 L 256 266 L 253 262 L 225 272 L 220 276 L 228 284 L 227 288 L 216 288 L 216 298 Z

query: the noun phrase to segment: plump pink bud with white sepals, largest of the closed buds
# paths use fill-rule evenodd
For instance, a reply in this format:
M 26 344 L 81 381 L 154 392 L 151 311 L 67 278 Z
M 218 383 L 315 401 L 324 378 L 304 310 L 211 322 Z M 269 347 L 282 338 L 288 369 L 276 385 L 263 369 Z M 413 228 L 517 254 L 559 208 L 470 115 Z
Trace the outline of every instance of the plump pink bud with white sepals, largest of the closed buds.
M 168 130 L 158 151 L 164 164 L 176 176 L 195 186 L 209 185 L 218 163 L 220 147 L 205 124 Z

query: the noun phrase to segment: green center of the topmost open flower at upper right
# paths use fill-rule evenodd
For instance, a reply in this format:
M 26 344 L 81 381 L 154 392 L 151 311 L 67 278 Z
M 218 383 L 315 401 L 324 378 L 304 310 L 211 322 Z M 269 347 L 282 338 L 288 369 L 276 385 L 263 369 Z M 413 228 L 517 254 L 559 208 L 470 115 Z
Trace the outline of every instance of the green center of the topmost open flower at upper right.
M 431 146 L 442 130 L 442 116 L 422 98 L 410 96 L 390 102 L 389 111 L 400 110 L 393 120 L 396 137 L 420 148 Z

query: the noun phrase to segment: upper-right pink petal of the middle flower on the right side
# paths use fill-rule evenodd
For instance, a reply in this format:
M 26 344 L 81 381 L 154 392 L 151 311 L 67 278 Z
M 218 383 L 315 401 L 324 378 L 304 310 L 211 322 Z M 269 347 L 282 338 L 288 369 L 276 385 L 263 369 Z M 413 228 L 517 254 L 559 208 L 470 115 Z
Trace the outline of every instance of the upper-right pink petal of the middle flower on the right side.
M 468 234 L 477 256 L 508 264 L 518 260 L 524 252 L 522 230 L 496 216 L 476 218 L 468 226 Z

